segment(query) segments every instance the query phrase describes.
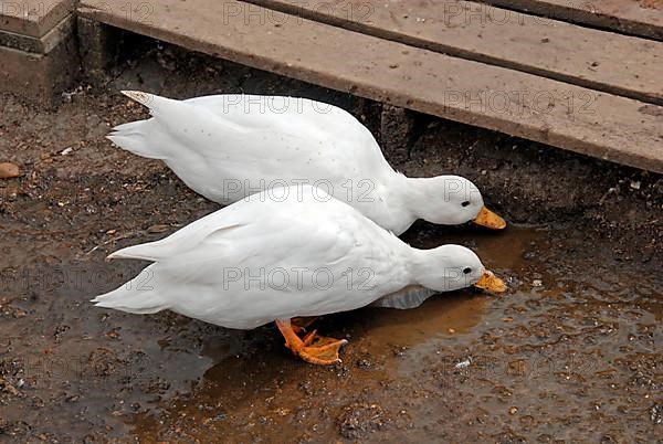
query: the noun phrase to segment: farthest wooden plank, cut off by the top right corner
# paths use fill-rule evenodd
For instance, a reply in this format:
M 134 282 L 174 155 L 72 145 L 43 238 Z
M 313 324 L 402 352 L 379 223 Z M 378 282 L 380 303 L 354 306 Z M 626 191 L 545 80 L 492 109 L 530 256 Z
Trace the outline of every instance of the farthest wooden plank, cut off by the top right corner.
M 663 41 L 661 0 L 482 0 L 573 23 Z

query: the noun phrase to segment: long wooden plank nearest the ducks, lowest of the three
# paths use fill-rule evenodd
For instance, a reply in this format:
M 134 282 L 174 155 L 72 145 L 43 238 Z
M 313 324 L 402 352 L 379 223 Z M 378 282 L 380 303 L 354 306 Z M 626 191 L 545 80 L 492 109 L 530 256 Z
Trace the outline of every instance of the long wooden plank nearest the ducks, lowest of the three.
M 154 0 L 86 18 L 322 86 L 663 172 L 663 108 L 240 1 Z

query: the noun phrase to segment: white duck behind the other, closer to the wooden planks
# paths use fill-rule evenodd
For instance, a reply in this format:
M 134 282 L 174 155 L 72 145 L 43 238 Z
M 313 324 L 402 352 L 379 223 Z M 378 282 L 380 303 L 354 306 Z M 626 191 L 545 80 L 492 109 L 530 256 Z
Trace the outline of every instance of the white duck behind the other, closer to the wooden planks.
M 161 159 L 189 188 L 230 204 L 272 187 L 314 184 L 401 234 L 418 219 L 439 224 L 504 220 L 459 176 L 407 178 L 349 113 L 306 98 L 217 95 L 175 101 L 123 92 L 152 118 L 114 128 L 128 151 Z

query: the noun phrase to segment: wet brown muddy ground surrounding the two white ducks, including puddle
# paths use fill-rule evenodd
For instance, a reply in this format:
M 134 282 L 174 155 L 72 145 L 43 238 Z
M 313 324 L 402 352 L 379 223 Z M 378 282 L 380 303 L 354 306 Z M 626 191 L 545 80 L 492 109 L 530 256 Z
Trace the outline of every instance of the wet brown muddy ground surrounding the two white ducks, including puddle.
M 326 316 L 318 330 L 349 339 L 330 368 L 294 359 L 272 326 L 93 307 L 144 266 L 106 254 L 217 209 L 103 138 L 145 116 L 118 88 L 309 96 L 385 137 L 379 104 L 151 42 L 136 51 L 56 110 L 0 97 L 0 161 L 22 173 L 0 180 L 0 442 L 661 441 L 663 179 L 477 128 L 418 116 L 398 168 L 467 176 L 515 223 L 418 223 L 404 239 L 473 247 L 508 278 L 504 296 Z

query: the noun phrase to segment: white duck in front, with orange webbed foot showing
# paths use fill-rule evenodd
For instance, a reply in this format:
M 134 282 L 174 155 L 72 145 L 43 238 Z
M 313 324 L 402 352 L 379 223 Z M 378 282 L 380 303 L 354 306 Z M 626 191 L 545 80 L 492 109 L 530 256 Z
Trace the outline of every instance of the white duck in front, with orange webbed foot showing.
M 276 321 L 286 347 L 312 363 L 338 361 L 345 340 L 301 339 L 291 319 L 352 310 L 386 295 L 504 284 L 460 245 L 417 250 L 309 186 L 280 188 L 211 213 L 157 242 L 108 258 L 154 263 L 93 299 L 135 314 L 164 309 L 228 328 Z

